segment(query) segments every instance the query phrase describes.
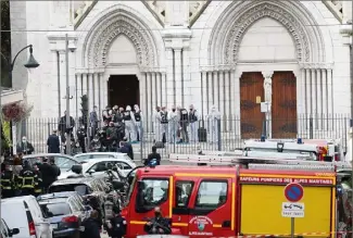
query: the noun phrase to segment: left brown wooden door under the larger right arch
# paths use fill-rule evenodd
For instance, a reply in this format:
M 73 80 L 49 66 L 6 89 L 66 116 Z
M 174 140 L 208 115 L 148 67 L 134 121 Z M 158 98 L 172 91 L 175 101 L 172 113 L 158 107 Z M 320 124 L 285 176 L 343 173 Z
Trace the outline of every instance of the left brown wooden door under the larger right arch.
M 264 77 L 260 72 L 242 73 L 240 77 L 240 128 L 241 138 L 260 138 L 264 114 L 256 97 L 264 100 Z

